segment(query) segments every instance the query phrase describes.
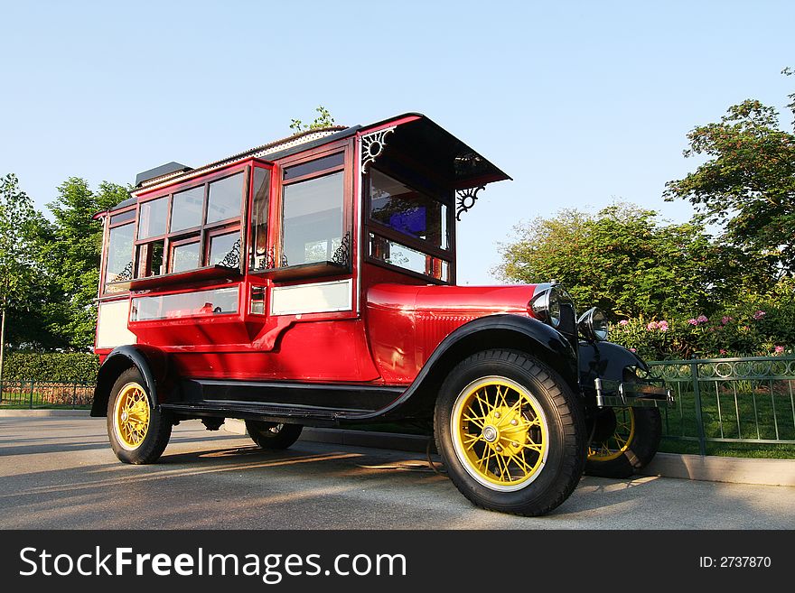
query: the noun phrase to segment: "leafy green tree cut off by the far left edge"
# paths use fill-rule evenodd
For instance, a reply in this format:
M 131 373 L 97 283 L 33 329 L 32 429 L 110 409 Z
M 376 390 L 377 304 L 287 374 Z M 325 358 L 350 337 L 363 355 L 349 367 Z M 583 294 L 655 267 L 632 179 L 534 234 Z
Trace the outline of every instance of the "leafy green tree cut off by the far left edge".
M 40 218 L 16 175 L 5 175 L 0 180 L 0 379 L 6 317 L 11 310 L 30 309 L 30 294 L 39 276 L 35 241 Z

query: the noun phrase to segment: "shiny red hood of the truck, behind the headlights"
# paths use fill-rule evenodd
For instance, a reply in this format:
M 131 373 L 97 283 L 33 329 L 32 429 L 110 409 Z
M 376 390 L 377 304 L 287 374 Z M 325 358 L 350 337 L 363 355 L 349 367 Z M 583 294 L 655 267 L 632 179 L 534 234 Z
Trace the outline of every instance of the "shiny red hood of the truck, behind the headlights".
M 395 310 L 527 314 L 536 284 L 437 286 L 376 284 L 367 293 L 369 307 Z

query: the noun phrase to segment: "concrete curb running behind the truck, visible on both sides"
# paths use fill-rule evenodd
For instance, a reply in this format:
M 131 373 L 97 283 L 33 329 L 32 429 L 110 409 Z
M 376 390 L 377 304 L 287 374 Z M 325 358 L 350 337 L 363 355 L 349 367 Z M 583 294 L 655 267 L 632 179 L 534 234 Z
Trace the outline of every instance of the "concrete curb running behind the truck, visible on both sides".
M 0 410 L 0 418 L 83 416 L 88 410 Z M 240 420 L 224 422 L 225 431 L 246 434 L 246 425 Z M 428 442 L 431 452 L 436 448 L 430 437 L 394 432 L 345 431 L 341 429 L 305 428 L 301 440 L 324 442 L 351 447 L 373 447 L 425 453 Z M 795 486 L 795 459 L 748 459 L 735 457 L 701 457 L 658 453 L 643 468 L 644 476 L 678 477 L 681 479 L 732 484 L 758 484 L 764 486 Z

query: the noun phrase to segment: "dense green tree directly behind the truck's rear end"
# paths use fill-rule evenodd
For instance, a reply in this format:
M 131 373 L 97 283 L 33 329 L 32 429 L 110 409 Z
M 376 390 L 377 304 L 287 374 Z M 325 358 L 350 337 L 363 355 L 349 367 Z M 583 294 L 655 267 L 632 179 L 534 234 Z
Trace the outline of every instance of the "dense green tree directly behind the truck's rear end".
M 102 225 L 92 219 L 99 211 L 129 198 L 128 189 L 103 181 L 97 192 L 88 181 L 70 177 L 58 188 L 58 199 L 48 204 L 55 217 L 47 259 L 60 298 L 46 313 L 50 328 L 69 347 L 88 348 L 94 343 L 97 322 L 99 261 Z

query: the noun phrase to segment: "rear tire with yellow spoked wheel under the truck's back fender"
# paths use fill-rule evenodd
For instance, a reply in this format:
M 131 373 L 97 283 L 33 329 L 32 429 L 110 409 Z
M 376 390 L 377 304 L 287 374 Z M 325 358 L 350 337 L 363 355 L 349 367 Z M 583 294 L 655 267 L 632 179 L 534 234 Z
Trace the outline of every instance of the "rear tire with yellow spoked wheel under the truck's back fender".
M 108 397 L 108 438 L 120 461 L 154 463 L 163 455 L 172 426 L 170 412 L 159 406 L 152 409 L 144 377 L 137 368 L 128 368 L 118 376 Z

